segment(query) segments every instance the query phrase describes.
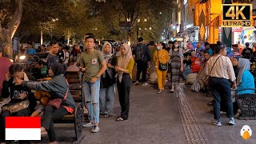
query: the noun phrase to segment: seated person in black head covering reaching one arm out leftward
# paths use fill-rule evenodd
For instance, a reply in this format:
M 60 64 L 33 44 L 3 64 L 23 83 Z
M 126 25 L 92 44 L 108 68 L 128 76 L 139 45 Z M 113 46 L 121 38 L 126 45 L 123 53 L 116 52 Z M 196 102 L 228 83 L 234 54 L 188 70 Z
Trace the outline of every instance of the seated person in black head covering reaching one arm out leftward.
M 53 121 L 63 118 L 66 114 L 72 114 L 75 107 L 74 98 L 70 94 L 66 78 L 62 76 L 62 71 L 62 64 L 54 62 L 50 65 L 49 75 L 52 77 L 50 81 L 26 82 L 22 79 L 16 81 L 16 85 L 23 85 L 33 90 L 43 90 L 50 93 L 52 102 L 50 101 L 45 106 L 41 127 L 41 134 L 48 134 L 50 143 L 57 143 Z M 58 102 L 57 99 L 62 99 L 62 102 Z

